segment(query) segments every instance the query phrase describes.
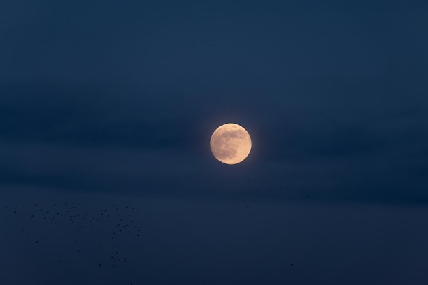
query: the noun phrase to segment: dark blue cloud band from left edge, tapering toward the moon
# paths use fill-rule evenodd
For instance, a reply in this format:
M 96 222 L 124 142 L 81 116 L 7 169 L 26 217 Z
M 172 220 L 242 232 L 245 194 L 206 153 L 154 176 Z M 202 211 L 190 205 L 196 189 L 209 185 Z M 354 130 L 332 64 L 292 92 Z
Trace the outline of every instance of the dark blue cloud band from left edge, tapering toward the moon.
M 0 135 L 10 141 L 168 148 L 187 144 L 192 131 L 189 119 L 168 104 L 114 87 L 22 84 L 0 90 Z

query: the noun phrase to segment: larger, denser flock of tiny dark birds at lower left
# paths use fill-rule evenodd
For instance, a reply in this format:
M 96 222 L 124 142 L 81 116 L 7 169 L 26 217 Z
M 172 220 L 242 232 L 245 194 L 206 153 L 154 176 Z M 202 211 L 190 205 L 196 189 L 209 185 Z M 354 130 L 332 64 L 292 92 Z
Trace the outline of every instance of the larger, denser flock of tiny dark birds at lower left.
M 70 249 L 81 254 L 85 252 L 82 247 L 84 247 L 85 241 L 90 239 L 92 233 L 96 232 L 96 236 L 99 236 L 100 232 L 104 232 L 103 236 L 108 241 L 98 243 L 96 245 L 98 250 L 90 253 L 91 258 L 96 258 L 94 256 L 96 252 L 109 253 L 109 260 L 98 256 L 98 267 L 106 265 L 117 267 L 118 264 L 127 262 L 128 258 L 120 250 L 123 248 L 122 245 L 130 241 L 138 241 L 142 234 L 141 229 L 133 219 L 135 208 L 129 206 L 120 207 L 112 204 L 108 207 L 102 207 L 98 205 L 96 211 L 93 209 L 92 211 L 85 211 L 85 209 L 79 208 L 79 205 L 75 202 L 69 202 L 64 199 L 62 202 L 53 203 L 49 206 L 32 204 L 12 207 L 3 205 L 3 210 L 34 222 L 38 220 L 53 225 L 66 224 L 67 228 L 75 230 L 74 234 L 68 236 L 73 245 Z M 20 231 L 24 234 L 27 229 L 22 228 Z M 36 245 L 40 244 L 40 242 L 40 239 L 34 240 Z M 57 261 L 63 262 L 66 261 L 65 259 L 59 257 Z

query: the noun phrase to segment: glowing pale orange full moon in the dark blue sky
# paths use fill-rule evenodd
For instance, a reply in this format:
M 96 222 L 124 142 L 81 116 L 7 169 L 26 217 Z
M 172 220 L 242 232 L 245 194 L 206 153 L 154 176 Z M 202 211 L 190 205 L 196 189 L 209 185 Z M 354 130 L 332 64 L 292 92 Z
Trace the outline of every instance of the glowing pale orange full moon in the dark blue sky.
M 211 135 L 210 146 L 216 159 L 226 164 L 237 164 L 250 154 L 251 138 L 239 124 L 224 124 Z

